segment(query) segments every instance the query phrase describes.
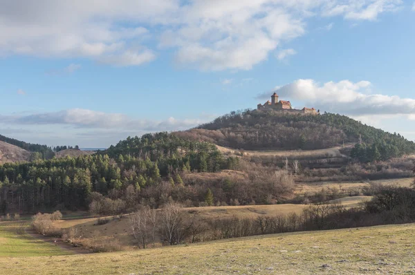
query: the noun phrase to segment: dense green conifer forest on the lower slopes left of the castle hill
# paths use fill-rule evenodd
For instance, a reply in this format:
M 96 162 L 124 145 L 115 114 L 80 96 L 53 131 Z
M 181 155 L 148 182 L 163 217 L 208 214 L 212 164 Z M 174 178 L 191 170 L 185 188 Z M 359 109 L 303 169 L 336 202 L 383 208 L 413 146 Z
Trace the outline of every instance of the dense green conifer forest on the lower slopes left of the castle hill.
M 132 140 L 142 140 L 142 146 L 126 145 Z M 99 154 L 3 164 L 0 211 L 86 209 L 93 191 L 115 199 L 123 198 L 127 189 L 137 194 L 136 201 L 157 205 L 163 186 L 183 185 L 183 174 L 229 169 L 237 163 L 236 158 L 223 158 L 211 144 L 181 142 L 167 133 L 129 139 L 107 153 L 114 158 Z

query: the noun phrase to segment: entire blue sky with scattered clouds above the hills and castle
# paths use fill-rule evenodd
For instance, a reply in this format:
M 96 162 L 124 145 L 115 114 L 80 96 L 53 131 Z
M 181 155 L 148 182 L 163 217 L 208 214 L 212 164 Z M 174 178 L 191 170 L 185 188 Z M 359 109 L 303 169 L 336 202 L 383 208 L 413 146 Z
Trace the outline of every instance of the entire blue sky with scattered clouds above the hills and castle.
M 415 2 L 0 0 L 0 134 L 107 147 L 256 108 L 415 140 Z

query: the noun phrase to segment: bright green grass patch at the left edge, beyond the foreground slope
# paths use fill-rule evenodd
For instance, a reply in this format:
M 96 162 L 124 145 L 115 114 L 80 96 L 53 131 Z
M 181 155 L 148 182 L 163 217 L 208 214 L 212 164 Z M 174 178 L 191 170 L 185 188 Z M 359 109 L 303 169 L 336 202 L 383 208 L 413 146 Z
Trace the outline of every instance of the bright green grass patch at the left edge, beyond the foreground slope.
M 26 233 L 27 222 L 0 222 L 0 258 L 72 254 Z M 1 266 L 1 265 L 0 265 Z M 1 274 L 8 274 L 1 270 Z

